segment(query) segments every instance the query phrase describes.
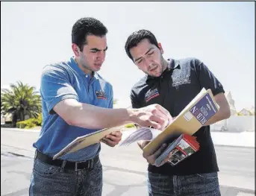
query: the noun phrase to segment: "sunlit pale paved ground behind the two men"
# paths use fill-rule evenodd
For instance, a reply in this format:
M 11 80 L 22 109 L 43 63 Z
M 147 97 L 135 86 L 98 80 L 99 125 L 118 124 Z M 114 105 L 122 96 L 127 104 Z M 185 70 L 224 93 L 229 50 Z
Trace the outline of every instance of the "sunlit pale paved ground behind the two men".
M 1 195 L 28 195 L 38 132 L 1 129 Z M 216 146 L 224 196 L 255 195 L 255 148 Z M 22 156 L 20 156 L 22 155 Z M 146 195 L 146 161 L 137 145 L 102 145 L 103 196 Z M 125 176 L 125 178 L 124 178 Z

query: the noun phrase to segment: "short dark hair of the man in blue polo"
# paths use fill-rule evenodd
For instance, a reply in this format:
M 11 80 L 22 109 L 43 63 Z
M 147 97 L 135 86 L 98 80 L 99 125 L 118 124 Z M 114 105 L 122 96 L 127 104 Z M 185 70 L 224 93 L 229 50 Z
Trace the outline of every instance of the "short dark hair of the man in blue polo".
M 72 43 L 78 45 L 83 51 L 84 45 L 87 44 L 87 36 L 94 35 L 103 37 L 107 34 L 107 28 L 98 19 L 84 17 L 78 19 L 72 27 Z

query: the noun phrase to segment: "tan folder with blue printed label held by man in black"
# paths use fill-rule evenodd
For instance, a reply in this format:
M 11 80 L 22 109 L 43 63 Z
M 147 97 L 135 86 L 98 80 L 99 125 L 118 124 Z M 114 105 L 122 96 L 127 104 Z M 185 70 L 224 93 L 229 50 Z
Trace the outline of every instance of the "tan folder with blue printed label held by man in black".
M 163 130 L 156 138 L 152 139 L 143 148 L 145 154 L 154 154 L 163 143 L 168 143 L 173 136 L 187 133 L 192 136 L 219 110 L 218 104 L 210 89 L 203 88 L 184 110 Z

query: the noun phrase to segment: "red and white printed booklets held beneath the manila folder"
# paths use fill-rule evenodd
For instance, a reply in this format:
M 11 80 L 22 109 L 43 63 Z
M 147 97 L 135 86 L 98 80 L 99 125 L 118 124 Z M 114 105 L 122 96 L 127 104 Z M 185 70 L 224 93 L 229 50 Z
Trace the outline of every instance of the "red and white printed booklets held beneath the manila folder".
M 175 139 L 169 144 L 166 150 L 157 157 L 155 164 L 160 165 L 160 163 L 163 162 L 163 159 L 165 159 L 169 153 L 172 153 L 169 162 L 174 166 L 191 154 L 196 153 L 196 151 L 199 151 L 199 142 L 196 141 L 196 137 L 183 133 L 178 139 Z

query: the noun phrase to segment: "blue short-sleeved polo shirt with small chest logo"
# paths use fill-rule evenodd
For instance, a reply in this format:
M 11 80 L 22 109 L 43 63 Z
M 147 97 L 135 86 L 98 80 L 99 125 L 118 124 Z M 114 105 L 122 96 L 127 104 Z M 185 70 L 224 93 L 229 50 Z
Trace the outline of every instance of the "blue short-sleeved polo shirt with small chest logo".
M 34 148 L 53 157 L 78 136 L 93 133 L 96 130 L 71 126 L 57 113 L 54 106 L 66 98 L 75 98 L 85 104 L 113 108 L 113 89 L 110 83 L 98 73 L 93 77 L 85 74 L 75 63 L 74 58 L 67 62 L 44 67 L 41 78 L 40 94 L 42 96 L 43 126 Z M 87 119 L 84 119 L 86 121 Z M 100 144 L 91 145 L 60 159 L 84 161 L 99 154 Z

